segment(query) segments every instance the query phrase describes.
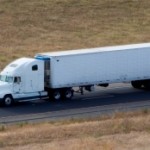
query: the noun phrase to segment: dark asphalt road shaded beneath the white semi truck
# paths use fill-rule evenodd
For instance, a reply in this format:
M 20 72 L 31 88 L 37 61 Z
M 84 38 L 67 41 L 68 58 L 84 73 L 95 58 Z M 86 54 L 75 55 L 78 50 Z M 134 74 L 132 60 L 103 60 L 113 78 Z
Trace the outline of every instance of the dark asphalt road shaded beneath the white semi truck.
M 33 101 L 0 107 L 0 123 L 54 121 L 72 118 L 96 117 L 117 111 L 150 108 L 150 91 L 137 90 L 130 84 L 112 84 L 98 87 L 94 92 L 75 94 L 72 100 L 49 102 Z

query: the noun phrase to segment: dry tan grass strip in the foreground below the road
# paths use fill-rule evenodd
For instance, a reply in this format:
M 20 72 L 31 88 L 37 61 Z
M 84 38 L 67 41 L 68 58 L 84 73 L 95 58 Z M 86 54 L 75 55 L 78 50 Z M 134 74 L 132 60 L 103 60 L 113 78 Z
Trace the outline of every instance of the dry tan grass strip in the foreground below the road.
M 150 146 L 149 110 L 116 113 L 95 120 L 74 120 L 73 123 L 68 120 L 3 128 L 0 149 L 6 150 L 136 150 Z

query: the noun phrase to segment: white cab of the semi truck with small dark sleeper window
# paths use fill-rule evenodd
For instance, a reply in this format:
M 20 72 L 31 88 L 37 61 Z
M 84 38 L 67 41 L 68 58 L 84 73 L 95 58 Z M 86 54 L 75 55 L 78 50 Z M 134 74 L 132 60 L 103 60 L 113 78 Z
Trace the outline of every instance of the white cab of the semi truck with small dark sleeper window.
M 0 73 L 0 101 L 6 106 L 13 102 L 36 100 L 47 96 L 44 91 L 44 62 L 20 58 Z

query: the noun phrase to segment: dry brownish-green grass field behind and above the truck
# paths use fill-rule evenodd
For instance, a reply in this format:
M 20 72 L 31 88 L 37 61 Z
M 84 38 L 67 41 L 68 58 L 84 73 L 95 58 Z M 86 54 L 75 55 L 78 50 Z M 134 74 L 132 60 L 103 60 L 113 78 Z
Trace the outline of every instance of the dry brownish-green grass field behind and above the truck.
M 0 68 L 38 52 L 149 42 L 149 0 L 0 0 Z

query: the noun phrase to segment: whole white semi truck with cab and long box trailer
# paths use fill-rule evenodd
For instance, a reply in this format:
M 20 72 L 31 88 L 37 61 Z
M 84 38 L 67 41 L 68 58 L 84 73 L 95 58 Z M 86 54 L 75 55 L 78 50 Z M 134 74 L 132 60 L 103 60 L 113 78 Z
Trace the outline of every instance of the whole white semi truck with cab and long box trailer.
M 36 54 L 19 58 L 0 73 L 0 102 L 71 99 L 74 88 L 129 82 L 150 89 L 150 43 Z

